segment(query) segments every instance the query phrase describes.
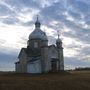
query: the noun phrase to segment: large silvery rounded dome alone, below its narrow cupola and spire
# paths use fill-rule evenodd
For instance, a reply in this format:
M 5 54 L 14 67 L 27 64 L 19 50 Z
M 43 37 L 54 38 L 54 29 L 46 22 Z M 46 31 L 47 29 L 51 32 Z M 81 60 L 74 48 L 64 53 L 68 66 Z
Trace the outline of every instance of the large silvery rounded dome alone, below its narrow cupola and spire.
M 29 36 L 29 40 L 31 39 L 41 39 L 41 40 L 48 40 L 46 33 L 43 32 L 40 28 L 36 28 Z

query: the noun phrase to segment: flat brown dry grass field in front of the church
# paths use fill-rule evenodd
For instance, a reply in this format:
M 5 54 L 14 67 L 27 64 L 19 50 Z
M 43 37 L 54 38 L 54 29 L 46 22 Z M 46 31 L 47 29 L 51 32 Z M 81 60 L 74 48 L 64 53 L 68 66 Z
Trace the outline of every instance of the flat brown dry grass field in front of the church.
M 0 74 L 0 90 L 90 90 L 90 71 L 70 74 Z

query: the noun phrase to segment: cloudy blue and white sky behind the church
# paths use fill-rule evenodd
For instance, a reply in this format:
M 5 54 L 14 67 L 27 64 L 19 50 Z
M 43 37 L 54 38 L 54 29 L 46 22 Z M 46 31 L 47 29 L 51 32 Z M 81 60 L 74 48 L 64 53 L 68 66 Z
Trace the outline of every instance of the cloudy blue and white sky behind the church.
M 90 67 L 90 0 L 0 0 L 0 71 L 15 70 L 37 15 L 49 44 L 59 31 L 65 69 Z

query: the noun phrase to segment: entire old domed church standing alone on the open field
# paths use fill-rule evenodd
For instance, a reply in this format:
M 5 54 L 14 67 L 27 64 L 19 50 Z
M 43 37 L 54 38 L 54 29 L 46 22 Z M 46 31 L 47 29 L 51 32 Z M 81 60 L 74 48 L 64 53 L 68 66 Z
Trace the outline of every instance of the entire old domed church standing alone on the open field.
M 29 35 L 27 47 L 22 48 L 15 63 L 17 73 L 48 73 L 64 70 L 62 41 L 58 36 L 56 45 L 48 45 L 46 33 L 40 29 L 37 18 L 35 30 Z

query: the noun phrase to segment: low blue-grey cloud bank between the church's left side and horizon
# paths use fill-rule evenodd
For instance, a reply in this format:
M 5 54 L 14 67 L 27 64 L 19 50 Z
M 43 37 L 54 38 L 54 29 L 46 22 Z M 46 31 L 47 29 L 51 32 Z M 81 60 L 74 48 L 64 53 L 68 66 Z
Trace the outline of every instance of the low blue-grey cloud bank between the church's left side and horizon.
M 0 52 L 0 71 L 15 70 L 14 63 L 17 60 L 17 54 L 15 52 L 9 54 Z

